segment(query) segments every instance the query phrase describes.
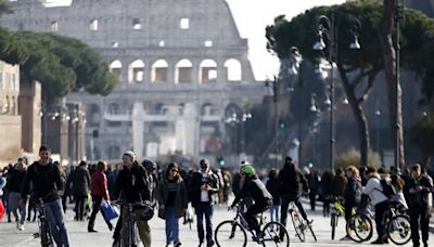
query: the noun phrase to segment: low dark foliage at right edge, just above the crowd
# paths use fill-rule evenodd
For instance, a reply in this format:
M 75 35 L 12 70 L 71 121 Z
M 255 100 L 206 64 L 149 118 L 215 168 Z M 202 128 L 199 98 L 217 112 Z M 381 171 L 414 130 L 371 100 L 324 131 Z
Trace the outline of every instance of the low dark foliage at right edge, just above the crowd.
M 410 128 L 410 142 L 417 145 L 421 153 L 420 162 L 426 166 L 429 157 L 434 155 L 434 117 L 429 114 L 419 119 Z

